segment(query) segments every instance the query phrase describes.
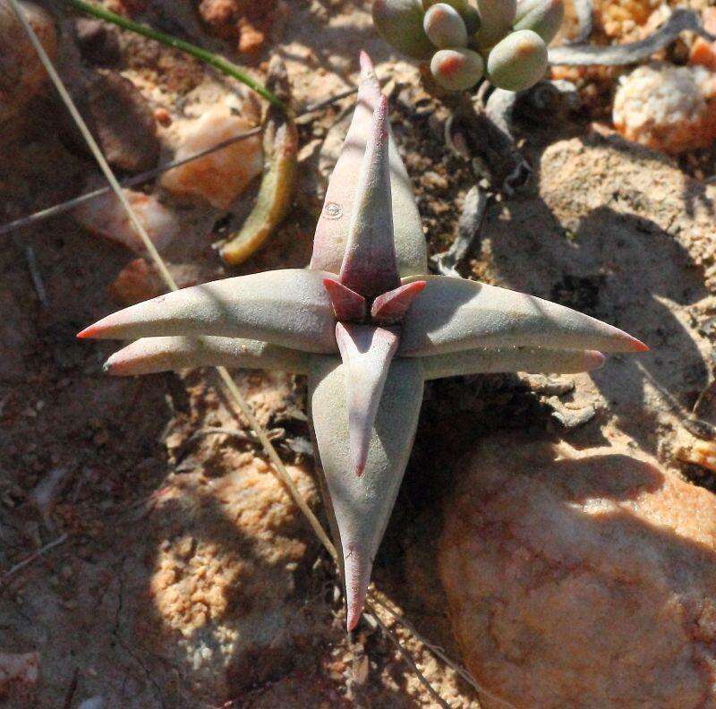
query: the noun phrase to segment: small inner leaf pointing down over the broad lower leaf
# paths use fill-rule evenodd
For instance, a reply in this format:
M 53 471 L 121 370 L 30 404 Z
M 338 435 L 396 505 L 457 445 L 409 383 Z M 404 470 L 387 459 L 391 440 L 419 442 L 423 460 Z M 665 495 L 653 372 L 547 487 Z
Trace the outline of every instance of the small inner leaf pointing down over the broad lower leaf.
M 345 403 L 353 469 L 356 475 L 361 475 L 398 338 L 389 329 L 338 322 L 336 341 L 345 364 Z

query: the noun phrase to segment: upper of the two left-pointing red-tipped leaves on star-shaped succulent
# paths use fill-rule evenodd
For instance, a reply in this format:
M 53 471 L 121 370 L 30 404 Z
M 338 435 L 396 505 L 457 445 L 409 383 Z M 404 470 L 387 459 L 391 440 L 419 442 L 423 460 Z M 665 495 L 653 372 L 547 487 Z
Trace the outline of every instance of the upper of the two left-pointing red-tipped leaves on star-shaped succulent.
M 78 337 L 251 337 L 304 352 L 337 351 L 328 274 L 285 269 L 183 288 L 108 315 Z

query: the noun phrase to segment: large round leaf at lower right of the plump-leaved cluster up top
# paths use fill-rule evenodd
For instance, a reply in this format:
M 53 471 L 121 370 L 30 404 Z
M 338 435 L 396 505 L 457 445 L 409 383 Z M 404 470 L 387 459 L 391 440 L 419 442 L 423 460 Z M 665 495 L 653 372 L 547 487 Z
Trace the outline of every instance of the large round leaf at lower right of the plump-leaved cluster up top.
M 487 74 L 500 89 L 522 91 L 547 71 L 547 45 L 532 30 L 517 30 L 490 50 Z

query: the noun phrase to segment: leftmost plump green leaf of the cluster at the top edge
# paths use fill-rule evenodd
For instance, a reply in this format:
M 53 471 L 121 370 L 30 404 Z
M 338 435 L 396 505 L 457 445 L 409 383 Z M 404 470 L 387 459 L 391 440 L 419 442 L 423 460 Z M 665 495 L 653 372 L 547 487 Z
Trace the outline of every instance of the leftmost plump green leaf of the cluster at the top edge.
M 373 23 L 380 37 L 413 59 L 429 59 L 430 39 L 422 29 L 420 0 L 373 0 Z

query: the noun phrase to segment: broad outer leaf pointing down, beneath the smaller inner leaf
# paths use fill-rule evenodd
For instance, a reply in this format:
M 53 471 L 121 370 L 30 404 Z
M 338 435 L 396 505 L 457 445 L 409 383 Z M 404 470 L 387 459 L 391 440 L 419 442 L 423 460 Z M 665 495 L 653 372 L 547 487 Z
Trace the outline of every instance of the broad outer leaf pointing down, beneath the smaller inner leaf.
M 410 457 L 422 402 L 422 363 L 390 366 L 363 474 L 352 474 L 345 402 L 346 366 L 313 357 L 308 402 L 328 502 L 343 560 L 348 629 L 361 617 L 373 559 Z M 336 534 L 336 533 L 334 533 Z

